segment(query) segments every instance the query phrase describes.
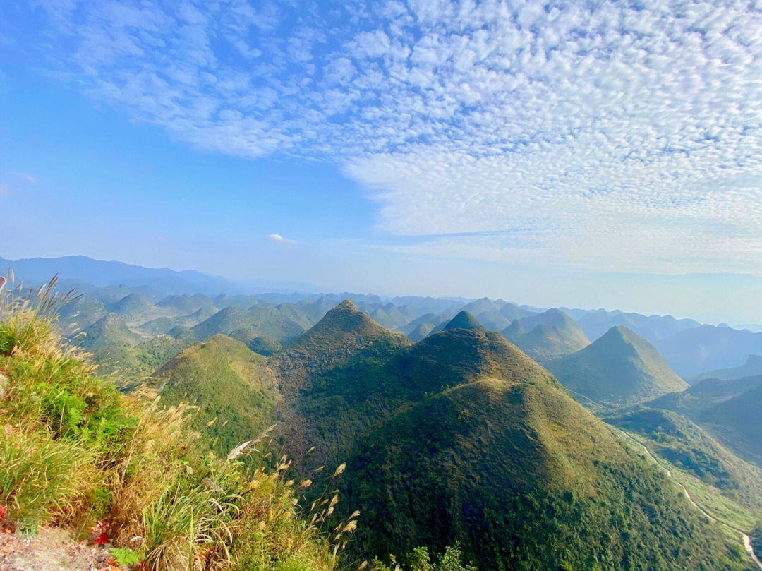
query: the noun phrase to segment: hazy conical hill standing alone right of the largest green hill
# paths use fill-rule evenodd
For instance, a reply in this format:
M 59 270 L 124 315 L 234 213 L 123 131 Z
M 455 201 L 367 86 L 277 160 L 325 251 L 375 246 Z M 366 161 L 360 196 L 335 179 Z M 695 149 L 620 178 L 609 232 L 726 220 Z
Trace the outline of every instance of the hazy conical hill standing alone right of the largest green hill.
M 548 368 L 572 393 L 606 406 L 645 403 L 688 387 L 653 345 L 621 326 Z

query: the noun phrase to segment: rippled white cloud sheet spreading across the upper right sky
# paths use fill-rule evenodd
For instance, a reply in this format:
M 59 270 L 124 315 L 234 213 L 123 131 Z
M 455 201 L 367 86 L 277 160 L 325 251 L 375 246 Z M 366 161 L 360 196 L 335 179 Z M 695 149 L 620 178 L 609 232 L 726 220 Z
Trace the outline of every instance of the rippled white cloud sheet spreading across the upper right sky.
M 758 6 L 36 4 L 88 95 L 197 149 L 335 162 L 381 229 L 434 236 L 405 251 L 762 273 Z

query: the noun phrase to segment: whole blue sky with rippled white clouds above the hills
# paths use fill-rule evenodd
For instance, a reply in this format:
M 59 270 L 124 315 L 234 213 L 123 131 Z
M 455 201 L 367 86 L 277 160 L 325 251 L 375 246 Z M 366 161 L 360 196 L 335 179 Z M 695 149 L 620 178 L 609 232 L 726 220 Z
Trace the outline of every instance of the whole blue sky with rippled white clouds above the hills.
M 0 255 L 762 322 L 762 2 L 0 4 Z

